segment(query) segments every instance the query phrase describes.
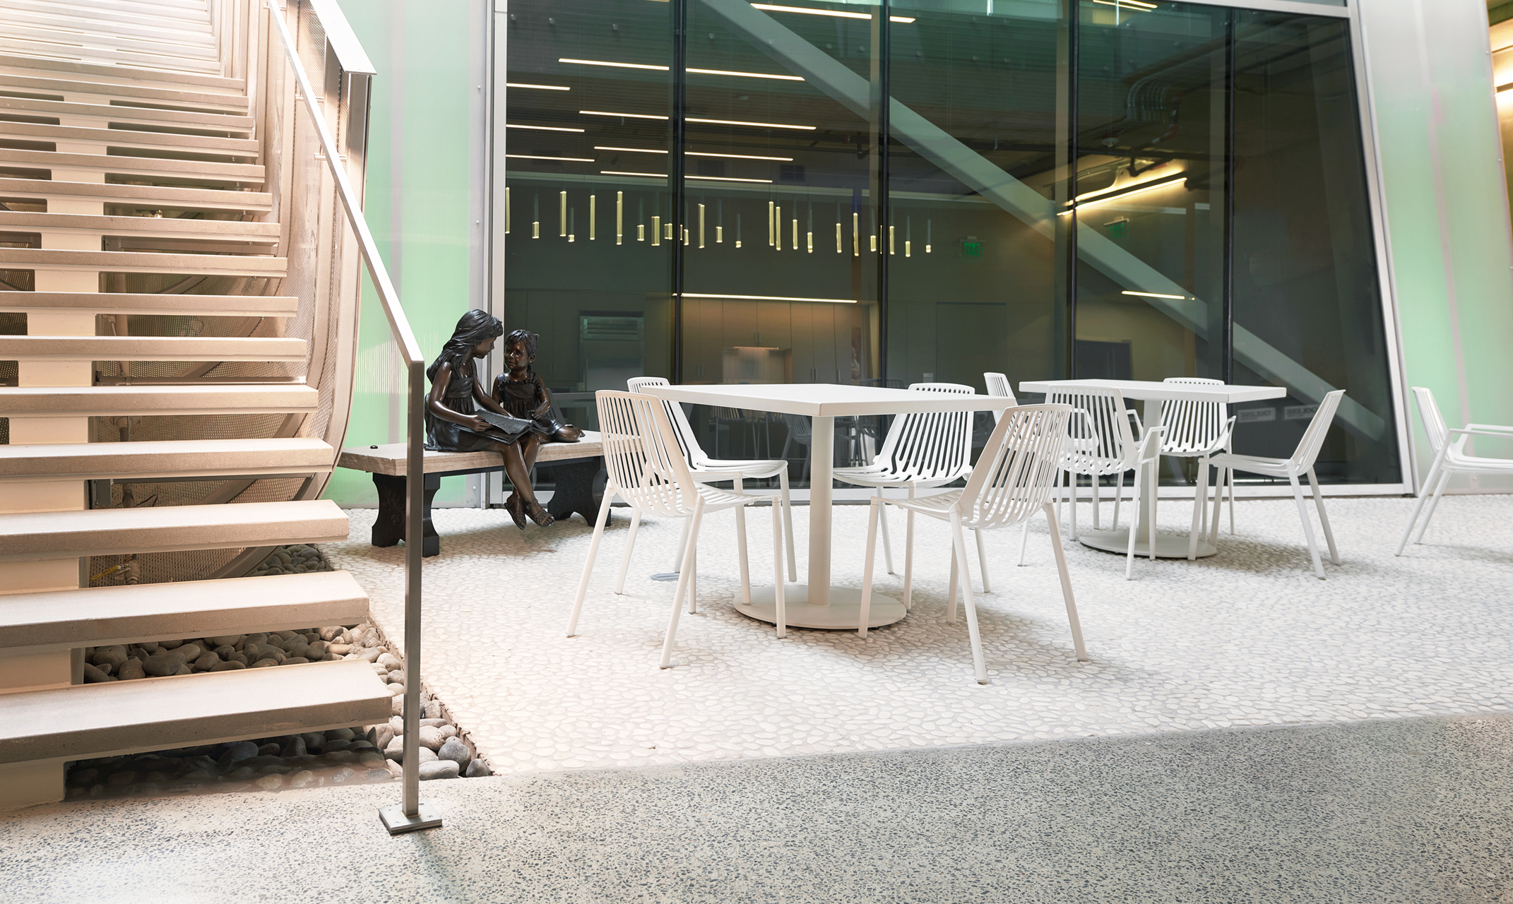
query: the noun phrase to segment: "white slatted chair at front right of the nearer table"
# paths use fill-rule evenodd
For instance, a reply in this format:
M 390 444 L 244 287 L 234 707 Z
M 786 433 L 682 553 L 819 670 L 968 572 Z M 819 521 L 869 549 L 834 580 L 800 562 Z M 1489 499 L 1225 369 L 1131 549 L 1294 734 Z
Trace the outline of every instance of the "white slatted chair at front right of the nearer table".
M 867 562 L 862 568 L 861 614 L 856 633 L 867 636 L 867 617 L 871 608 L 873 559 L 878 549 L 878 522 L 885 505 L 897 505 L 909 514 L 920 512 L 932 519 L 950 522 L 952 571 L 947 614 L 956 620 L 958 567 L 967 570 L 967 540 L 962 531 L 991 531 L 1014 528 L 1045 512 L 1050 522 L 1052 549 L 1056 550 L 1056 568 L 1061 573 L 1061 593 L 1067 603 L 1067 621 L 1071 624 L 1071 639 L 1077 659 L 1086 661 L 1082 645 L 1082 624 L 1077 621 L 1077 603 L 1071 594 L 1071 577 L 1067 574 L 1067 553 L 1061 547 L 1056 519 L 1050 509 L 1052 487 L 1061 466 L 1067 440 L 1068 405 L 1021 405 L 1009 408 L 999 426 L 993 429 L 977 466 L 971 469 L 967 485 L 937 496 L 921 499 L 871 500 L 867 519 Z M 911 544 L 912 546 L 912 544 Z M 906 553 L 912 553 L 909 549 Z M 909 605 L 912 593 L 912 556 L 905 556 L 903 602 Z M 977 683 L 988 683 L 988 670 L 982 659 L 982 633 L 977 629 L 977 605 L 971 596 L 971 579 L 962 580 L 967 594 L 967 633 L 971 638 L 971 662 Z

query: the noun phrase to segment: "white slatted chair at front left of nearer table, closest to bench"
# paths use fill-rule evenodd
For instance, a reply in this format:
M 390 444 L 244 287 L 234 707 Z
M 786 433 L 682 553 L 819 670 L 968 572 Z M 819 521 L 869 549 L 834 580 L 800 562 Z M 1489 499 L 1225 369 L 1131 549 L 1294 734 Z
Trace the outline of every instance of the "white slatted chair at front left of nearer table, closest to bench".
M 666 408 L 658 404 L 658 399 L 643 393 L 599 390 L 595 393 L 595 402 L 599 408 L 599 434 L 604 440 L 604 467 L 608 472 L 608 484 L 604 488 L 604 502 L 599 503 L 599 519 L 593 526 L 593 540 L 589 543 L 589 559 L 583 564 L 583 577 L 578 580 L 578 596 L 573 599 L 572 615 L 567 618 L 567 636 L 573 636 L 578 632 L 578 615 L 583 612 L 583 599 L 589 591 L 589 576 L 593 573 L 593 561 L 599 555 L 599 540 L 604 538 L 604 523 L 610 515 L 610 502 L 619 496 L 634 511 L 631 515 L 631 534 L 625 540 L 625 553 L 620 556 L 620 573 L 616 577 L 614 593 L 625 593 L 625 571 L 631 562 L 635 529 L 640 528 L 643 512 L 688 520 L 688 528 L 684 531 L 687 537 L 685 553 L 688 567 L 678 576 L 678 590 L 672 600 L 672 617 L 667 620 L 667 635 L 663 639 L 661 667 L 669 668 L 672 665 L 672 644 L 678 633 L 678 614 L 682 609 L 684 594 L 688 596 L 688 612 L 697 611 L 699 525 L 704 515 L 726 508 L 735 509 L 741 602 L 750 603 L 744 506 L 753 502 L 764 502 L 770 497 L 741 494 L 740 472 L 731 472 L 717 478 L 734 479 L 737 485 L 735 493 L 717 490 L 708 484 L 694 481 L 688 463 L 679 454 L 672 420 L 667 417 Z M 787 633 L 787 623 L 782 587 L 782 519 L 778 512 L 782 505 L 781 500 L 772 500 L 772 556 L 778 636 L 784 636 Z

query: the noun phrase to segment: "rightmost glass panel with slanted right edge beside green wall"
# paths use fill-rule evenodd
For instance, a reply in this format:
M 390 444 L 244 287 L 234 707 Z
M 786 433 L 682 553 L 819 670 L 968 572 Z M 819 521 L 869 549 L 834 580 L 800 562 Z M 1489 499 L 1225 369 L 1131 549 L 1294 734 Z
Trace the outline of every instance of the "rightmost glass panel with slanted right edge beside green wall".
M 1322 481 L 1401 479 L 1347 23 L 1236 24 L 1235 381 L 1291 393 L 1239 411 L 1235 444 L 1291 455 L 1322 395 L 1348 390 Z

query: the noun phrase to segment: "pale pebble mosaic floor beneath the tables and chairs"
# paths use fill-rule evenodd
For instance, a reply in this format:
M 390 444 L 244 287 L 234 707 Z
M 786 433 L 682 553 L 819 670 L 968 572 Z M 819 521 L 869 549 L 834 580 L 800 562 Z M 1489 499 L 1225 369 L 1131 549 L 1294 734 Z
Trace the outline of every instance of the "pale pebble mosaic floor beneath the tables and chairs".
M 422 674 L 502 774 L 1508 711 L 1513 496 L 1446 497 L 1427 543 L 1403 558 L 1392 547 L 1412 500 L 1327 505 L 1344 559 L 1325 561 L 1327 580 L 1312 574 L 1291 499 L 1239 500 L 1239 534 L 1219 535 L 1219 555 L 1139 559 L 1130 582 L 1123 556 L 1068 543 L 1082 664 L 1044 520 L 1026 567 L 1015 567 L 1017 531 L 988 534 L 986 686 L 973 680 L 965 621 L 944 618 L 949 532 L 937 522 L 917 531 L 908 618 L 867 639 L 790 629 L 779 641 L 731 606 L 734 515 L 707 519 L 701 609 L 684 615 L 664 671 L 673 584 L 651 574 L 670 568 L 678 522 L 642 523 L 616 596 L 629 519 L 614 509 L 579 636 L 567 638 L 590 526 L 522 532 L 498 509 L 437 509 Z M 1160 529 L 1185 532 L 1189 512 L 1163 503 Z M 350 514 L 351 540 L 322 550 L 368 588 L 398 642 L 402 547 L 369 546 L 374 511 Z M 802 579 L 808 509 L 794 514 Z M 1088 515 L 1083 505 L 1083 525 Z M 835 584 L 861 587 L 865 517 L 865 506 L 835 509 Z M 749 519 L 756 582 L 772 574 L 769 525 L 766 509 Z M 893 526 L 902 573 L 902 519 Z M 879 590 L 897 593 L 902 577 L 884 574 L 878 555 Z

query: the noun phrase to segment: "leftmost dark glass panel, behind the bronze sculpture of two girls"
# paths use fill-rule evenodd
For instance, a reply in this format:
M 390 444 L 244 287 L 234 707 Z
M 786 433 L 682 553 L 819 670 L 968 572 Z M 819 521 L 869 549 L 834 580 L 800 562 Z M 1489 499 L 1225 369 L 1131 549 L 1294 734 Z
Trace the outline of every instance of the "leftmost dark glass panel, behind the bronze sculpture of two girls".
M 593 390 L 672 376 L 669 8 L 510 5 L 505 328 L 542 334 L 536 372 L 581 426 Z

